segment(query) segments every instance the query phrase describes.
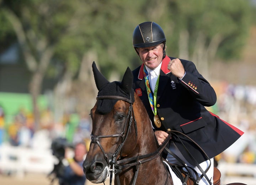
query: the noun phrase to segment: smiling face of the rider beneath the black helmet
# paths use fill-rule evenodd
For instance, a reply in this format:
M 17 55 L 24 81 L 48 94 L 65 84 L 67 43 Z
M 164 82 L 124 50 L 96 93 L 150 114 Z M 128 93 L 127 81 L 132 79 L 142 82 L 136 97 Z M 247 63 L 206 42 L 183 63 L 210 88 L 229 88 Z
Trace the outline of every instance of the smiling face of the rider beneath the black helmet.
M 163 44 L 137 49 L 139 56 L 147 67 L 155 69 L 162 62 Z

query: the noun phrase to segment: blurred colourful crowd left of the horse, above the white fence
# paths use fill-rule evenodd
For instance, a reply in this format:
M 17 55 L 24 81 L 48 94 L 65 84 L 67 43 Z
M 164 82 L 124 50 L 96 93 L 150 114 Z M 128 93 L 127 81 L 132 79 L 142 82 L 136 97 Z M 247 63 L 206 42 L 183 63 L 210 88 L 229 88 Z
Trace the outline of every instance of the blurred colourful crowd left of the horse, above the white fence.
M 45 109 L 41 111 L 40 120 L 40 130 L 37 132 L 44 133 L 44 138 L 47 137 L 50 141 L 56 138 L 65 138 L 68 143 L 75 145 L 80 142 L 86 143 L 90 138 L 89 113 L 84 116 L 64 114 L 60 122 L 55 122 L 53 111 Z M 34 131 L 32 112 L 21 108 L 13 116 L 13 121 L 6 123 L 4 110 L 0 107 L 0 145 L 7 142 L 12 146 L 33 147 L 34 135 L 37 132 Z

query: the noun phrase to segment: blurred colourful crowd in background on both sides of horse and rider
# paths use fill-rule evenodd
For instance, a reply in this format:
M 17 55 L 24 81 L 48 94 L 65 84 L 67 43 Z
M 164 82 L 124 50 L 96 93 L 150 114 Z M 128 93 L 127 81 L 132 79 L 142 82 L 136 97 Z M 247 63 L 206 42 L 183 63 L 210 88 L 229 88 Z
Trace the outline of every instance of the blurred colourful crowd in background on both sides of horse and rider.
M 216 159 L 256 163 L 256 87 L 218 83 L 214 88 L 218 100 L 209 111 L 245 132 L 234 145 Z M 33 123 L 33 114 L 25 109 L 20 109 L 14 115 L 13 122 L 5 123 L 4 110 L 0 107 L 0 145 L 8 142 L 12 146 L 32 147 L 31 142 L 35 135 Z M 90 143 L 89 112 L 85 115 L 65 114 L 62 121 L 56 123 L 53 111 L 46 109 L 41 112 L 40 126 L 42 130 L 47 131 L 51 140 L 64 137 L 69 143 Z

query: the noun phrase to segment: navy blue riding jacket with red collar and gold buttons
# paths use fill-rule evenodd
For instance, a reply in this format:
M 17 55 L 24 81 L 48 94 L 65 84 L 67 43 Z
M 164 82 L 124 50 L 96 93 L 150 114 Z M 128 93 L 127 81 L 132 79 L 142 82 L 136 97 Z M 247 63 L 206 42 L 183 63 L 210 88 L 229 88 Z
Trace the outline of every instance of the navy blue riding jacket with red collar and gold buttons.
M 144 103 L 156 130 L 180 131 L 193 139 L 208 157 L 212 158 L 227 149 L 244 132 L 223 121 L 204 107 L 216 103 L 216 93 L 209 82 L 198 73 L 194 63 L 180 59 L 186 70 L 186 75 L 179 80 L 167 69 L 171 59 L 174 58 L 166 56 L 160 70 L 156 98 L 157 114 L 161 120 L 160 128 L 154 125 L 154 114 L 150 108 L 143 76 L 144 64 L 133 70 L 133 89 Z M 186 160 L 194 164 L 180 140 L 176 137 L 172 137 L 172 140 Z M 207 160 L 198 147 L 186 137 L 181 136 L 181 140 L 198 163 Z

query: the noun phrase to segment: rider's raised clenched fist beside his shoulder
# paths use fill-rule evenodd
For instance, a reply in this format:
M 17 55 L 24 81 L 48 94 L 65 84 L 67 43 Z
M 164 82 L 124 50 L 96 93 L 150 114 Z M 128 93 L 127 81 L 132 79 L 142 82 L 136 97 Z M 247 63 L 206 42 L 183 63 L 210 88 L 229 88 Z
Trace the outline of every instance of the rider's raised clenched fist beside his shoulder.
M 178 77 L 178 78 L 182 78 L 183 75 L 185 74 L 185 69 L 180 61 L 180 59 L 178 58 L 175 58 L 175 59 L 172 59 L 169 64 L 168 64 L 168 67 L 167 67 L 168 70 L 171 71 L 171 73 Z

